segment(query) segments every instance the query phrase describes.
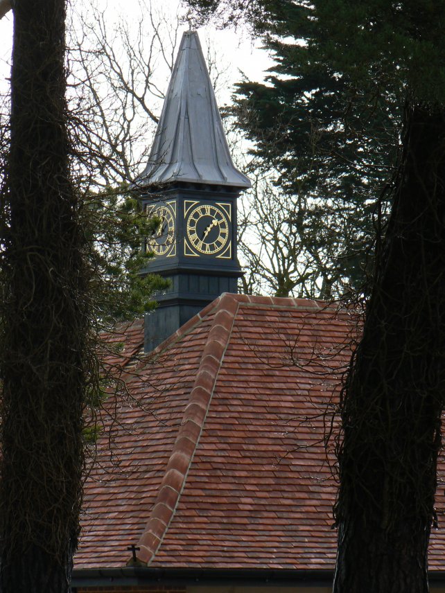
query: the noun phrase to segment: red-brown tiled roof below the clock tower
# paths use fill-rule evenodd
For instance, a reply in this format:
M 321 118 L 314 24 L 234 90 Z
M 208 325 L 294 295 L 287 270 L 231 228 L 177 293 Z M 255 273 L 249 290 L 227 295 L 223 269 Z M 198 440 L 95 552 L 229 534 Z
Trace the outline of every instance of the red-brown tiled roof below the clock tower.
M 123 566 L 134 544 L 151 567 L 332 568 L 324 435 L 355 328 L 321 302 L 234 294 L 150 356 L 128 326 L 128 393 L 107 402 L 76 567 Z

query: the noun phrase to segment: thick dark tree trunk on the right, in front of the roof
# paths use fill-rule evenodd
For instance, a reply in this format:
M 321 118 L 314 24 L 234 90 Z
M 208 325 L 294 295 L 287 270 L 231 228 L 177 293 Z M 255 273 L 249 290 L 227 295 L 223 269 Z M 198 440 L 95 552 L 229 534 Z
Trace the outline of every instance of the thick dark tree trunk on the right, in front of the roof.
M 445 393 L 445 114 L 406 113 L 392 215 L 341 401 L 335 593 L 428 592 Z

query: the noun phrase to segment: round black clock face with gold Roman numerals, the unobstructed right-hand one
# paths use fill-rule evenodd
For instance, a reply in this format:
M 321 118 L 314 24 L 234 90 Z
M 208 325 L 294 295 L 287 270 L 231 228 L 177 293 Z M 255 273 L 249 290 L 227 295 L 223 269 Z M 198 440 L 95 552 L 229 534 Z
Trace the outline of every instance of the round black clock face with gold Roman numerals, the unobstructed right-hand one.
M 229 241 L 227 213 L 213 204 L 200 204 L 189 213 L 187 238 L 201 254 L 218 254 Z

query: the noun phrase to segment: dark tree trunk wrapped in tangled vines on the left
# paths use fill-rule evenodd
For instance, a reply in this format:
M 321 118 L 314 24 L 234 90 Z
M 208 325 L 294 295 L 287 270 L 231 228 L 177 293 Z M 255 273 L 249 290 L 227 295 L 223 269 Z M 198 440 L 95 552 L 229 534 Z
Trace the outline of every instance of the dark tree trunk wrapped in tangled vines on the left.
M 0 591 L 69 590 L 81 502 L 87 271 L 69 171 L 64 0 L 14 8 L 1 188 Z

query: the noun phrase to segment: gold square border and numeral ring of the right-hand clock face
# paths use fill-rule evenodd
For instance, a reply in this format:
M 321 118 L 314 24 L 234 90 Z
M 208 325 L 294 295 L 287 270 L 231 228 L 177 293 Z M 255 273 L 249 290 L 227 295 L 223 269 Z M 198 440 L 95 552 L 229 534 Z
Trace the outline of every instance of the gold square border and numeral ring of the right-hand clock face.
M 186 238 L 189 240 L 191 245 L 189 245 L 189 242 L 187 241 L 184 243 L 184 254 L 196 255 L 193 253 L 193 251 L 192 253 L 190 251 L 187 252 L 187 247 L 189 247 L 189 249 L 194 249 L 195 251 L 198 251 L 199 254 L 206 256 L 218 257 L 217 254 L 220 254 L 222 251 L 225 254 L 227 252 L 227 244 L 230 245 L 229 226 L 231 222 L 231 204 L 224 204 L 224 207 L 223 204 L 219 204 L 218 202 L 215 204 L 200 204 L 199 202 L 193 202 L 193 204 L 191 204 L 189 201 L 187 202 L 190 205 L 187 208 L 187 203 L 184 202 L 184 213 L 186 214 Z M 229 212 L 227 212 L 227 210 Z M 195 214 L 198 214 L 198 218 L 195 217 Z M 206 243 L 204 238 L 200 239 L 196 233 L 197 224 L 204 216 L 209 216 L 213 219 L 212 223 L 209 224 L 206 230 L 211 231 L 211 227 L 213 226 L 218 226 L 220 229 L 218 238 L 213 240 L 211 243 Z M 193 221 L 195 224 L 191 224 L 191 221 Z M 221 223 L 224 223 L 223 227 L 221 227 Z M 223 233 L 221 231 L 223 231 Z M 222 235 L 225 235 L 224 239 Z M 230 253 L 232 253 L 232 249 L 230 249 Z

